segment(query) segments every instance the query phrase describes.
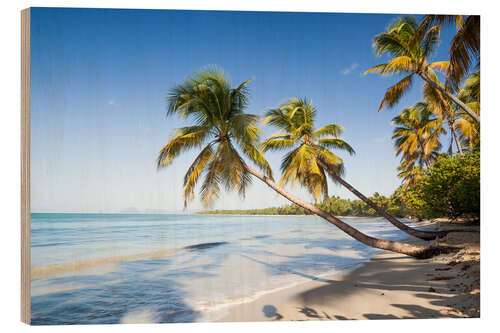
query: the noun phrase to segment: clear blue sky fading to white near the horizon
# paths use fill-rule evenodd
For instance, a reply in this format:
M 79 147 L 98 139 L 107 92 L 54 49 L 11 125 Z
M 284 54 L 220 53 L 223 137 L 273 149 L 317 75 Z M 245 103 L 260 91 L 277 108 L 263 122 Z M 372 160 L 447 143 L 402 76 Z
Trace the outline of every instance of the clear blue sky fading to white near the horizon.
M 223 68 L 234 85 L 252 78 L 250 113 L 312 99 L 318 125 L 343 126 L 356 150 L 340 154 L 347 181 L 367 195 L 390 195 L 400 183 L 390 120 L 420 100 L 421 82 L 393 110 L 377 112 L 398 77 L 362 73 L 384 61 L 371 42 L 397 16 L 33 8 L 32 211 L 182 211 L 182 178 L 195 152 L 156 170 L 159 149 L 185 125 L 165 117 L 165 96 L 207 65 Z M 443 31 L 434 59 L 447 59 L 452 33 Z M 266 157 L 279 176 L 281 155 Z M 333 194 L 354 198 L 332 185 Z M 215 208 L 285 203 L 255 180 L 246 200 L 227 193 Z M 195 200 L 189 210 L 201 208 Z

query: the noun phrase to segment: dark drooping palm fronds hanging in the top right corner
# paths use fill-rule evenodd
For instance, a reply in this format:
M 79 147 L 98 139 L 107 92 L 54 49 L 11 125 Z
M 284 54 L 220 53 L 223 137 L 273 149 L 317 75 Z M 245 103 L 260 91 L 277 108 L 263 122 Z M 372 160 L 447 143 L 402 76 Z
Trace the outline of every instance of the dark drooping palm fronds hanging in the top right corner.
M 446 85 L 457 89 L 473 62 L 479 64 L 480 56 L 480 18 L 477 15 L 425 15 L 418 28 L 423 34 L 434 24 L 454 24 L 457 33 L 450 45 L 450 67 L 446 74 Z

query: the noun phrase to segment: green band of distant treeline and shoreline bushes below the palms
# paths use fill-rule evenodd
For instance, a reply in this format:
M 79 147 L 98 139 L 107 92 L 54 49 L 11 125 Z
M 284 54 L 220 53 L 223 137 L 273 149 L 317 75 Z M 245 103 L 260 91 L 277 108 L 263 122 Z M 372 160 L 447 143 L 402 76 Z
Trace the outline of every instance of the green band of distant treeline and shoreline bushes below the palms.
M 418 182 L 399 187 L 390 197 L 375 193 L 369 199 L 396 217 L 419 219 L 480 215 L 480 154 L 463 156 L 439 155 L 429 169 L 420 169 Z M 380 216 L 361 200 L 332 196 L 315 204 L 319 209 L 337 216 Z M 199 214 L 232 215 L 311 215 L 297 205 L 248 210 L 214 210 Z

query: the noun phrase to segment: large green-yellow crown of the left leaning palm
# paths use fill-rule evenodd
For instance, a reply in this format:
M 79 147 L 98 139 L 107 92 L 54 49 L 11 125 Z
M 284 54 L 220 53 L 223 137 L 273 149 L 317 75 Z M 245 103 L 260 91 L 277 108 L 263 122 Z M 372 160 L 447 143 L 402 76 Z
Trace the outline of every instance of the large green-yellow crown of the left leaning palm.
M 234 141 L 252 163 L 272 178 L 271 167 L 257 149 L 260 130 L 258 117 L 246 114 L 249 101 L 246 80 L 232 89 L 224 72 L 217 67 L 209 67 L 187 78 L 175 86 L 167 96 L 167 116 L 177 115 L 194 122 L 194 126 L 174 131 L 172 139 L 160 150 L 159 168 L 171 164 L 182 152 L 191 148 L 201 148 L 210 138 L 188 168 L 184 177 L 184 204 L 194 198 L 200 177 L 200 198 L 204 206 L 213 205 L 220 195 L 220 187 L 235 190 L 241 196 L 251 182 L 245 161 L 233 146 Z M 214 151 L 214 147 L 217 148 Z

